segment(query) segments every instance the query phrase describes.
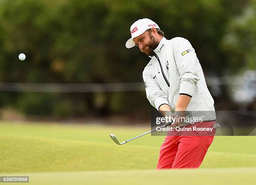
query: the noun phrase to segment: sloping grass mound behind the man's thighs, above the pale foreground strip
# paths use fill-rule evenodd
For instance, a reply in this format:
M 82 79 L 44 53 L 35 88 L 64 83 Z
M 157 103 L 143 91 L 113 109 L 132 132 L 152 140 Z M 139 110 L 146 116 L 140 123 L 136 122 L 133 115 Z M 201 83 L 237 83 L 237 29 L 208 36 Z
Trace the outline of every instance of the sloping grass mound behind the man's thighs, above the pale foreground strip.
M 158 147 L 0 136 L 0 173 L 155 169 Z M 256 155 L 207 153 L 201 168 L 256 167 Z

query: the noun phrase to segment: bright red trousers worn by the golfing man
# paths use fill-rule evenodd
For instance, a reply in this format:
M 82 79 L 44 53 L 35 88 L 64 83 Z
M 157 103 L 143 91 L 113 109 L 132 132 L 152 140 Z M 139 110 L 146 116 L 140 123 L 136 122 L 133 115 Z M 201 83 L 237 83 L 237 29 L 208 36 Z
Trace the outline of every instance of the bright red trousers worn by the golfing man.
M 212 128 L 215 121 L 197 122 L 185 128 Z M 199 168 L 212 144 L 215 129 L 210 131 L 169 131 L 161 145 L 156 169 Z

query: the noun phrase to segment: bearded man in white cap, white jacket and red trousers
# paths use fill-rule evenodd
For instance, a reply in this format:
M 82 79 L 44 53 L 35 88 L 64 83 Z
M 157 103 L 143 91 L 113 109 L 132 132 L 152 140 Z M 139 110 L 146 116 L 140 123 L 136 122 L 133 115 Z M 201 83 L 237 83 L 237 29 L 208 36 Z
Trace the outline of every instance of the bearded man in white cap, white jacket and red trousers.
M 151 57 L 143 71 L 146 96 L 161 114 L 184 111 L 211 111 L 197 127 L 215 126 L 214 101 L 207 89 L 202 67 L 188 40 L 175 37 L 167 40 L 152 20 L 144 18 L 131 25 L 131 38 L 125 46 L 138 46 Z M 174 113 L 175 113 L 174 112 Z M 180 122 L 173 122 L 172 127 Z M 190 125 L 187 125 L 190 127 Z M 167 135 L 161 145 L 157 169 L 198 168 L 215 134 Z

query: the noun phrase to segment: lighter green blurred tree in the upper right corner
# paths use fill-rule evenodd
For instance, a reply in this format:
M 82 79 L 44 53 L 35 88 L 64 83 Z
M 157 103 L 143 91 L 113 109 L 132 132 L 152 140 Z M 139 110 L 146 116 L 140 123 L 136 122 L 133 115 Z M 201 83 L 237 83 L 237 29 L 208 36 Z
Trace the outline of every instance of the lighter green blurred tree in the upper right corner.
M 223 37 L 231 72 L 256 70 L 256 1 L 251 1 L 241 15 L 233 17 Z M 242 69 L 242 71 L 241 71 Z M 227 69 L 228 70 L 228 69 Z

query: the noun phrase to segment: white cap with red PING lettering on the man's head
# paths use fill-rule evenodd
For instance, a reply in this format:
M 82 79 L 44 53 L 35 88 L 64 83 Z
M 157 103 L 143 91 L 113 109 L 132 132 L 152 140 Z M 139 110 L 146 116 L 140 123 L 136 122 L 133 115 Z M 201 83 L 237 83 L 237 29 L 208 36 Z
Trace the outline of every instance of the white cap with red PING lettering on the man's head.
M 148 18 L 139 19 L 133 25 L 131 25 L 131 38 L 126 41 L 125 46 L 127 48 L 131 48 L 135 46 L 135 43 L 133 42 L 133 38 L 138 37 L 143 32 L 150 28 L 159 28 L 159 26 L 153 21 Z M 160 29 L 160 28 L 159 28 Z

